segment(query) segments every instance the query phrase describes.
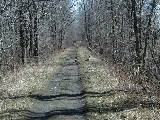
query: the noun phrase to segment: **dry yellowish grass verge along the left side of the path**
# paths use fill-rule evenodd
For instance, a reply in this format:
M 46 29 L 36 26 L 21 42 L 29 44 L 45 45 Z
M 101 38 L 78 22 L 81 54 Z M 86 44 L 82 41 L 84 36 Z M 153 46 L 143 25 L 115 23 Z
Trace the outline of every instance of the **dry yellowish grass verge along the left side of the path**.
M 7 115 L 12 116 L 12 112 L 31 107 L 33 100 L 28 96 L 43 91 L 72 50 L 73 48 L 68 48 L 59 51 L 38 65 L 28 64 L 18 71 L 8 72 L 3 76 L 0 84 L 0 119 L 6 118 Z M 14 114 L 14 118 L 16 116 L 19 114 Z

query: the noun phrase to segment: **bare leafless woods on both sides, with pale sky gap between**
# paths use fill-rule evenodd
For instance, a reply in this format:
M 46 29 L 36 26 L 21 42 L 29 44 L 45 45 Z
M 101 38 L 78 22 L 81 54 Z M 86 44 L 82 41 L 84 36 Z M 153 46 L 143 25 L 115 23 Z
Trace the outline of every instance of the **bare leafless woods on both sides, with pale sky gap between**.
M 2 0 L 0 5 L 2 73 L 82 41 L 130 79 L 159 89 L 158 0 Z

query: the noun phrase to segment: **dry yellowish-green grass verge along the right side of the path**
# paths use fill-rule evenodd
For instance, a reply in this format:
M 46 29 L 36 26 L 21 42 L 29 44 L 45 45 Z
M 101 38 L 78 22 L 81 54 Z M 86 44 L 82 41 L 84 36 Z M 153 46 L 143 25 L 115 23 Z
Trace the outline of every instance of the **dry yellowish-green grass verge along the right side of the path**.
M 80 47 L 78 62 L 82 74 L 88 120 L 159 120 L 159 98 L 121 77 L 114 66 Z

